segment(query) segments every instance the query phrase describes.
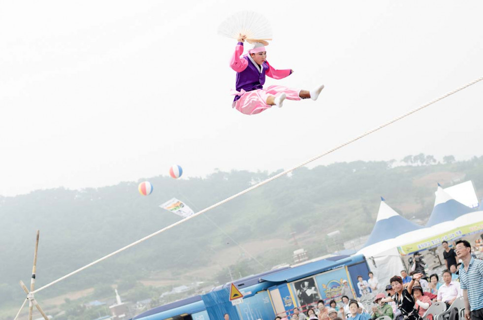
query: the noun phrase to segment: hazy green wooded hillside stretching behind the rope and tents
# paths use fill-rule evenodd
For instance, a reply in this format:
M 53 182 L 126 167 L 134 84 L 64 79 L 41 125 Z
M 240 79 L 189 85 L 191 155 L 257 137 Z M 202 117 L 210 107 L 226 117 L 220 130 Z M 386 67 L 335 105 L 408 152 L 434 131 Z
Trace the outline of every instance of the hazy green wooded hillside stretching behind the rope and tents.
M 483 157 L 467 161 L 447 157 L 445 163 L 437 164 L 434 157 L 419 154 L 405 157 L 403 161 L 408 165 L 404 166 L 394 166 L 390 160 L 300 168 L 290 177 L 281 177 L 227 202 L 39 294 L 46 299 L 96 286 L 95 295 L 102 295 L 107 293 L 105 285 L 118 285 L 121 292 L 129 292 L 129 298 L 153 298 L 162 292 L 139 286 L 137 281 L 159 273 L 178 279 L 197 267 L 216 264 L 216 254 L 236 246 L 231 239 L 240 244 L 268 239 L 291 243 L 290 233 L 295 232 L 297 237 L 310 240 L 311 245 L 305 248 L 310 257 L 325 254 L 339 242 L 371 232 L 380 195 L 396 210 L 409 208 L 400 210 L 403 216 L 424 220 L 432 209 L 436 182 L 451 185 L 449 180 L 425 177 L 437 177 L 439 172 L 447 177 L 450 172 L 473 180 L 477 190 L 483 190 Z M 178 221 L 178 216 L 158 207 L 173 196 L 197 211 L 272 174 L 218 170 L 205 178 L 143 178 L 155 186 L 150 196 L 139 195 L 138 182 L 81 191 L 58 188 L 0 196 L 0 305 L 24 298 L 18 281 L 29 281 L 35 229 L 40 229 L 38 288 Z M 339 242 L 331 244 L 333 240 L 326 239 L 326 234 L 335 230 L 340 230 L 341 236 Z M 290 262 L 295 249 L 295 245 L 281 246 L 265 250 L 256 258 L 270 268 Z M 265 271 L 248 258 L 244 252 L 229 258 L 234 277 L 239 277 L 236 272 L 245 276 Z M 238 268 L 238 264 L 242 267 Z M 212 276 L 220 283 L 229 280 L 227 270 Z M 72 306 L 73 314 L 76 308 Z

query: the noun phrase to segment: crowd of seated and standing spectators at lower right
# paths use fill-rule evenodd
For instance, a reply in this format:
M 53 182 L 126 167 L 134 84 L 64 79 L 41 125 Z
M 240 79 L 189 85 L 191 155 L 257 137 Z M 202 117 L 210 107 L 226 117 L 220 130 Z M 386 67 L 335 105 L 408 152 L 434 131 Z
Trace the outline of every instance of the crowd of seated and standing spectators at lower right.
M 409 274 L 401 270 L 400 276 L 392 277 L 386 286 L 372 272 L 367 280 L 359 275 L 357 290 L 361 298 L 354 299 L 353 291 L 344 280 L 339 303 L 314 301 L 305 309 L 294 308 L 288 318 L 276 320 L 375 320 L 383 316 L 391 320 L 420 320 L 431 304 L 443 302 L 449 308 L 460 297 L 464 299 L 466 320 L 483 320 L 483 260 L 471 255 L 471 245 L 466 240 L 456 241 L 452 248 L 444 241 L 442 247 L 445 260 L 442 272 L 426 273 L 427 264 L 415 253 L 410 260 Z

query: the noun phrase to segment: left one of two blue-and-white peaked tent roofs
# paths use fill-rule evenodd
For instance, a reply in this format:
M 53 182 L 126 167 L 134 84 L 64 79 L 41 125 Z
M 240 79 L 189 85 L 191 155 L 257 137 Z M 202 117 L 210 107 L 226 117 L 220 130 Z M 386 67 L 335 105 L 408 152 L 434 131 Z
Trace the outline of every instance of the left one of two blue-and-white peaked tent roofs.
M 383 199 L 381 197 L 381 199 Z M 403 233 L 420 229 L 421 226 L 414 224 L 406 218 L 399 215 L 384 200 L 381 201 L 379 212 L 377 214 L 376 224 L 372 229 L 371 235 L 364 247 L 381 242 L 387 239 L 393 239 Z

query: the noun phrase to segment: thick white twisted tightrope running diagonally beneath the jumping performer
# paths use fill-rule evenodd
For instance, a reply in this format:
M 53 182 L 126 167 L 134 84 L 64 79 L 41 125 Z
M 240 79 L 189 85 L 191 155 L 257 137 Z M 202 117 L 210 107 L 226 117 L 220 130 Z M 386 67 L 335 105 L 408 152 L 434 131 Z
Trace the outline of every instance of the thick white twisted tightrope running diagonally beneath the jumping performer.
M 81 267 L 81 268 L 79 268 L 79 269 L 77 269 L 77 270 L 75 270 L 75 271 L 73 271 L 73 272 L 69 273 L 69 274 L 66 274 L 66 275 L 65 275 L 65 276 L 63 276 L 63 277 L 61 277 L 61 278 L 59 278 L 59 279 L 57 279 L 57 280 L 54 280 L 54 281 L 52 281 L 51 283 L 49 283 L 49 284 L 47 284 L 47 285 L 45 285 L 45 286 L 43 286 L 43 287 L 41 287 L 41 288 L 36 289 L 35 291 L 32 291 L 32 293 L 36 293 L 36 292 L 41 291 L 41 290 L 43 290 L 43 289 L 45 289 L 45 288 L 48 288 L 48 287 L 50 287 L 50 286 L 52 286 L 52 285 L 54 285 L 54 284 L 56 284 L 56 283 L 58 283 L 58 282 L 60 282 L 60 281 L 62 281 L 62 280 L 64 280 L 64 279 L 66 279 L 66 278 L 68 278 L 68 277 L 70 277 L 70 276 L 72 276 L 72 275 L 74 275 L 74 274 L 76 274 L 76 273 L 78 273 L 78 272 L 80 272 L 80 271 L 84 270 L 84 269 L 87 269 L 87 268 L 89 268 L 89 267 L 91 267 L 91 266 L 93 266 L 93 265 L 97 264 L 98 262 L 100 262 L 100 261 L 102 261 L 102 260 L 105 260 L 105 259 L 107 259 L 107 258 L 109 258 L 109 257 L 111 257 L 111 256 L 114 256 L 114 255 L 117 255 L 118 253 L 123 252 L 123 251 L 124 251 L 124 250 L 126 250 L 126 249 L 129 249 L 129 248 L 131 248 L 131 247 L 134 247 L 135 245 L 137 245 L 137 244 L 139 244 L 139 243 L 141 243 L 141 242 L 143 242 L 143 241 L 145 241 L 145 240 L 148 240 L 148 239 L 150 239 L 150 238 L 154 237 L 155 235 L 158 235 L 158 234 L 160 234 L 160 233 L 162 233 L 162 232 L 164 232 L 164 231 L 166 231 L 166 230 L 169 230 L 169 229 L 171 229 L 171 228 L 173 228 L 173 227 L 175 227 L 175 226 L 177 226 L 177 225 L 179 225 L 179 224 L 182 224 L 182 223 L 184 223 L 184 222 L 186 222 L 186 221 L 188 221 L 188 220 L 191 220 L 191 219 L 193 219 L 194 217 L 197 217 L 197 216 L 199 216 L 199 215 L 201 215 L 201 214 L 203 214 L 203 213 L 205 213 L 205 212 L 207 212 L 207 211 L 209 211 L 209 210 L 211 210 L 211 209 L 214 209 L 214 208 L 216 208 L 216 207 L 218 207 L 218 206 L 221 206 L 222 204 L 224 204 L 224 203 L 226 203 L 226 202 L 228 202 L 228 201 L 231 201 L 231 200 L 233 200 L 234 198 L 239 197 L 240 195 L 243 195 L 243 194 L 245 194 L 245 193 L 247 193 L 247 192 L 250 192 L 250 191 L 252 191 L 252 190 L 254 190 L 254 189 L 257 189 L 258 187 L 261 187 L 261 186 L 263 186 L 263 185 L 265 185 L 265 184 L 267 184 L 267 183 L 269 183 L 269 182 L 271 182 L 271 181 L 273 181 L 273 180 L 275 180 L 275 179 L 277 179 L 277 178 L 280 178 L 281 176 L 286 175 L 286 174 L 288 174 L 288 173 L 290 173 L 290 172 L 294 171 L 295 169 L 298 169 L 298 168 L 300 168 L 300 167 L 302 167 L 302 166 L 304 166 L 304 165 L 306 165 L 306 164 L 308 164 L 308 163 L 310 163 L 310 162 L 312 162 L 312 161 L 315 161 L 315 160 L 317 160 L 317 159 L 320 159 L 320 158 L 322 158 L 322 157 L 324 157 L 324 156 L 326 156 L 326 155 L 328 155 L 328 154 L 330 154 L 330 153 L 332 153 L 332 152 L 334 152 L 334 151 L 336 151 L 336 150 L 338 150 L 338 149 L 340 149 L 340 148 L 342 148 L 342 147 L 345 147 L 345 146 L 347 146 L 347 145 L 349 145 L 349 144 L 351 144 L 351 143 L 353 143 L 353 142 L 355 142 L 355 141 L 357 141 L 357 140 L 359 140 L 359 139 L 361 139 L 361 138 L 365 137 L 366 135 L 369 135 L 369 134 L 371 134 L 371 133 L 373 133 L 373 132 L 376 132 L 376 131 L 378 131 L 378 130 L 380 130 L 380 129 L 382 129 L 382 128 L 385 128 L 385 127 L 389 126 L 390 124 L 393 124 L 393 123 L 394 123 L 394 122 L 396 122 L 396 121 L 399 121 L 399 120 L 401 120 L 401 119 L 403 119 L 403 118 L 406 118 L 407 116 L 412 115 L 413 113 L 415 113 L 415 112 L 417 112 L 417 111 L 419 111 L 419 110 L 421 110 L 421 109 L 424 109 L 424 108 L 426 108 L 427 106 L 429 106 L 429 105 L 431 105 L 431 104 L 433 104 L 433 103 L 435 103 L 435 102 L 438 102 L 439 100 L 442 100 L 442 99 L 444 99 L 444 98 L 446 98 L 446 97 L 448 97 L 448 96 L 451 96 L 451 95 L 453 95 L 453 94 L 457 93 L 458 91 L 461 91 L 461 90 L 463 90 L 463 89 L 465 89 L 465 88 L 468 88 L 469 86 L 472 86 L 472 85 L 474 85 L 475 83 L 477 83 L 477 82 L 479 82 L 479 81 L 482 81 L 482 80 L 483 80 L 483 77 L 477 78 L 477 79 L 475 79 L 475 80 L 473 80 L 473 81 L 471 81 L 471 82 L 469 82 L 469 83 L 467 83 L 467 84 L 465 84 L 465 85 L 463 85 L 463 86 L 461 86 L 461 87 L 459 87 L 459 88 L 457 88 L 457 89 L 455 89 L 455 90 L 453 90 L 453 91 L 450 91 L 450 92 L 446 93 L 446 94 L 445 94 L 445 95 L 443 95 L 443 96 L 440 96 L 440 97 L 438 97 L 438 98 L 436 98 L 436 99 L 433 99 L 433 100 L 431 100 L 431 101 L 429 101 L 429 102 L 427 102 L 427 103 L 425 103 L 425 104 L 423 104 L 423 105 L 421 105 L 421 106 L 419 106 L 419 107 L 417 107 L 417 108 L 414 108 L 414 109 L 412 109 L 412 110 L 410 110 L 410 111 L 408 111 L 408 112 L 406 112 L 406 113 L 404 113 L 404 114 L 400 115 L 399 117 L 396 117 L 396 118 L 394 118 L 394 119 L 392 119 L 392 120 L 390 120 L 390 121 L 388 121 L 388 122 L 386 122 L 386 123 L 384 123 L 384 124 L 380 125 L 379 127 L 373 128 L 373 129 L 371 129 L 371 130 L 369 130 L 369 131 L 365 131 L 364 133 L 359 134 L 359 135 L 358 135 L 358 136 L 356 136 L 355 138 L 353 138 L 353 139 L 351 139 L 351 140 L 349 140 L 349 141 L 347 141 L 347 142 L 341 143 L 341 144 L 339 144 L 338 146 L 336 146 L 336 147 L 334 147 L 334 148 L 332 148 L 332 149 L 329 149 L 329 150 L 325 151 L 324 153 L 322 153 L 322 154 L 320 154 L 320 155 L 318 155 L 318 156 L 315 156 L 315 157 L 313 157 L 313 158 L 311 158 L 311 159 L 309 159 L 309 160 L 306 160 L 306 161 L 304 161 L 304 162 L 302 162 L 302 163 L 300 163 L 300 164 L 298 164 L 298 165 L 296 165 L 296 166 L 294 166 L 294 167 L 291 167 L 291 168 L 290 168 L 290 169 L 288 169 L 288 170 L 285 170 L 285 171 L 283 171 L 283 172 L 281 172 L 281 173 L 278 173 L 278 174 L 274 175 L 273 177 L 270 177 L 270 178 L 268 178 L 268 179 L 266 179 L 266 180 L 264 180 L 264 181 L 262 181 L 262 182 L 259 182 L 258 184 L 253 185 L 252 187 L 250 187 L 250 188 L 248 188 L 248 189 L 245 189 L 245 190 L 243 190 L 243 191 L 241 191 L 241 192 L 238 192 L 238 193 L 236 193 L 236 194 L 234 194 L 234 195 L 232 195 L 232 196 L 227 197 L 226 199 L 224 199 L 224 200 L 222 200 L 222 201 L 220 201 L 220 202 L 217 202 L 217 203 L 215 203 L 215 204 L 213 204 L 213 205 L 211 205 L 211 206 L 209 206 L 209 207 L 207 207 L 207 208 L 205 208 L 205 209 L 203 209 L 203 210 L 201 210 L 201 211 L 198 211 L 198 212 L 196 212 L 195 214 L 193 214 L 192 216 L 189 216 L 189 217 L 187 217 L 187 218 L 184 218 L 184 219 L 182 219 L 182 220 L 180 220 L 180 221 L 178 221 L 178 222 L 175 222 L 174 224 L 170 224 L 170 225 L 168 225 L 168 226 L 166 226 L 166 227 L 164 227 L 164 228 L 162 228 L 162 229 L 160 229 L 160 230 L 158 230 L 158 231 L 156 231 L 156 232 L 154 232 L 154 233 L 151 233 L 151 234 L 150 234 L 150 235 L 148 235 L 148 236 L 145 236 L 145 237 L 144 237 L 144 238 L 142 238 L 142 239 L 139 239 L 139 240 L 137 240 L 137 241 L 135 241 L 135 242 L 133 242 L 133 243 L 131 243 L 131 244 L 129 244 L 129 245 L 127 245 L 127 246 L 125 246 L 125 247 L 123 247 L 123 248 L 119 249 L 119 250 L 116 250 L 116 251 L 114 251 L 113 253 L 110 253 L 110 254 L 109 254 L 109 255 L 107 255 L 107 256 L 103 256 L 103 257 L 101 257 L 101 258 L 97 259 L 96 261 L 93 261 L 93 262 L 91 262 L 91 263 L 89 263 L 89 264 L 87 264 L 87 265 L 85 265 L 85 266 L 83 266 L 83 267 Z

